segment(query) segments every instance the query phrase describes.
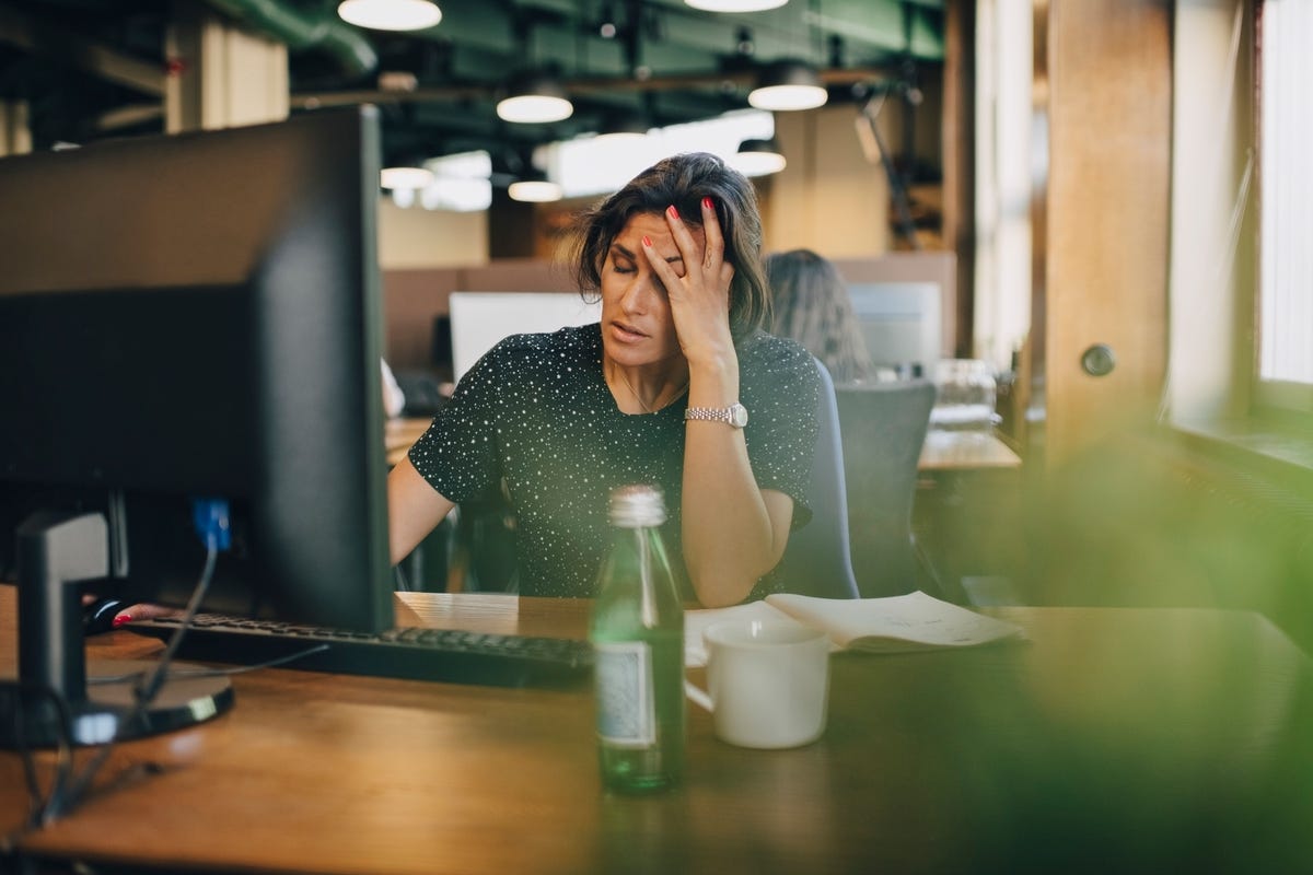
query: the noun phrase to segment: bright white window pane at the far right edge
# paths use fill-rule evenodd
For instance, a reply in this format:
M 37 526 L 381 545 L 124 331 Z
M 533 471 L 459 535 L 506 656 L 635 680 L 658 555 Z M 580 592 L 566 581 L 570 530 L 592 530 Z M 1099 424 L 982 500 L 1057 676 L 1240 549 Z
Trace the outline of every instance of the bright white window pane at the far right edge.
M 1313 3 L 1258 17 L 1259 404 L 1313 411 Z

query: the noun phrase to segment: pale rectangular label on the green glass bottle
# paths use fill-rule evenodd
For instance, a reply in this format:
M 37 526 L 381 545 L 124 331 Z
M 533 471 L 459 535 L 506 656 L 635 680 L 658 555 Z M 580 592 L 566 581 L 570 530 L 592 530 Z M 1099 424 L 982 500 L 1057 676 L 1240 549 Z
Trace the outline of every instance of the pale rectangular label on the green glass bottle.
M 651 649 L 645 641 L 597 641 L 597 737 L 620 748 L 656 744 Z

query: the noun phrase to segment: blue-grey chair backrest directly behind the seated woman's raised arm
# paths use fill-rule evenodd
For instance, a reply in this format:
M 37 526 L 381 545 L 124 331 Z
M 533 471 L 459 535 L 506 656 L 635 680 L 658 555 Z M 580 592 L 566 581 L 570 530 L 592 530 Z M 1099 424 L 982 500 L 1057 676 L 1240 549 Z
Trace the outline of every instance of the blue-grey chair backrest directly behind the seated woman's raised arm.
M 811 521 L 789 535 L 780 560 L 785 589 L 805 596 L 856 598 L 848 546 L 848 499 L 843 474 L 843 442 L 834 380 L 819 361 L 821 399 L 817 405 L 817 450 L 811 458 L 807 504 Z

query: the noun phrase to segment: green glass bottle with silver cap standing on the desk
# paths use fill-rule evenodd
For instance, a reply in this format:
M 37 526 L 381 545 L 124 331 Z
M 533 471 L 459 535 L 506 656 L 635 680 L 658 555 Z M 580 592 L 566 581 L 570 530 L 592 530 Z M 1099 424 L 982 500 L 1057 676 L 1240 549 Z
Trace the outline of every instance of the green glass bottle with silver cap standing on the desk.
M 684 609 L 658 529 L 664 521 L 659 489 L 611 493 L 613 539 L 590 639 L 601 781 L 620 792 L 670 787 L 684 770 Z

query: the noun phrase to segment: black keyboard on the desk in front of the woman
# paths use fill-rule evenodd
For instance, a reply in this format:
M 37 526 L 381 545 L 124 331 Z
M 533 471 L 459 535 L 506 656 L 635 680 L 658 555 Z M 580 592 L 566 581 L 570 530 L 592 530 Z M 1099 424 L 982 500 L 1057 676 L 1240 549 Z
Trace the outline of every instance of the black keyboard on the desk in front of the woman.
M 168 639 L 181 624 L 161 618 L 126 628 Z M 320 649 L 307 653 L 319 645 Z M 591 677 L 592 645 L 562 638 L 534 638 L 446 628 L 395 628 L 369 634 L 197 614 L 176 659 L 263 665 L 303 653 L 278 668 L 369 674 L 484 686 L 570 686 Z

